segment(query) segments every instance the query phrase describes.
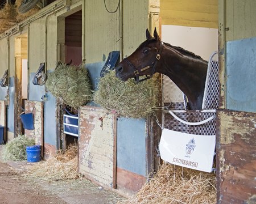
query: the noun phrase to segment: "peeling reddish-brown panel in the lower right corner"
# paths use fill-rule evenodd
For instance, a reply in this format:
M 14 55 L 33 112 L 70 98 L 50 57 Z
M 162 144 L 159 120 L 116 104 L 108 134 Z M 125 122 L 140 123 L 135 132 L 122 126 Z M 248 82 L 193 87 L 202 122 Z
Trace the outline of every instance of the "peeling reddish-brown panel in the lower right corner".
M 217 111 L 217 201 L 256 202 L 256 113 Z

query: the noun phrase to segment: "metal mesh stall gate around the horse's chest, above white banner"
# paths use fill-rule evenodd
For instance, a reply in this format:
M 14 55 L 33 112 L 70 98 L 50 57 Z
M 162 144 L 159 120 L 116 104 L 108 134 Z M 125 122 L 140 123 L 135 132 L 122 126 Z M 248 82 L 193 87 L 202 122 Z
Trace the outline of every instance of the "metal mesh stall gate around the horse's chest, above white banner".
M 205 82 L 204 109 L 218 108 L 218 54 L 214 53 L 208 63 L 207 81 Z M 163 76 L 163 103 L 170 110 L 184 110 L 183 92 L 167 76 Z M 200 122 L 211 116 L 214 111 L 176 111 L 176 116 L 187 122 Z M 197 135 L 215 135 L 215 119 L 203 125 L 186 125 L 177 121 L 170 113 L 163 113 L 163 128 L 181 133 Z

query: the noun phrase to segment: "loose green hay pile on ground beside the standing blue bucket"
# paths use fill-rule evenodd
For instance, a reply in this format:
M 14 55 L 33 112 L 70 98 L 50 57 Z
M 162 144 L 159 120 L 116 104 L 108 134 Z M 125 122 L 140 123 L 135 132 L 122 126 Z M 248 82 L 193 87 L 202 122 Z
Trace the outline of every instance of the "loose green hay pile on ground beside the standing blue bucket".
M 23 161 L 27 160 L 26 147 L 35 145 L 35 139 L 19 135 L 12 141 L 7 142 L 3 148 L 3 160 Z

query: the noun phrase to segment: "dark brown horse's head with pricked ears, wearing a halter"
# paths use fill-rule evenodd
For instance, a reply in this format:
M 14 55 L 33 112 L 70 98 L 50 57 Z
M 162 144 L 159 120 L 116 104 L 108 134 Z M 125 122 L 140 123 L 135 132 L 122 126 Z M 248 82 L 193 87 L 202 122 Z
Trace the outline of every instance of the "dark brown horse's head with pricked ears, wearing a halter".
M 137 83 L 139 76 L 146 75 L 150 78 L 156 72 L 156 65 L 160 59 L 163 42 L 160 40 L 156 28 L 154 37 L 146 29 L 146 40 L 129 57 L 123 59 L 115 68 L 115 75 L 124 82 L 129 78 L 135 78 Z M 143 79 L 144 80 L 144 79 Z

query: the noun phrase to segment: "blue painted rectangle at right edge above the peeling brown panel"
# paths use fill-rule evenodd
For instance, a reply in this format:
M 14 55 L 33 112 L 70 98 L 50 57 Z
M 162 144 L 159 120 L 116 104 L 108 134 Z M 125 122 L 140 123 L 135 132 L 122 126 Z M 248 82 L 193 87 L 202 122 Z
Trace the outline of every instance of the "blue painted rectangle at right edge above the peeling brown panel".
M 256 37 L 226 43 L 226 108 L 256 112 Z

